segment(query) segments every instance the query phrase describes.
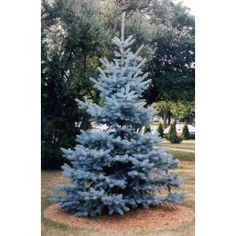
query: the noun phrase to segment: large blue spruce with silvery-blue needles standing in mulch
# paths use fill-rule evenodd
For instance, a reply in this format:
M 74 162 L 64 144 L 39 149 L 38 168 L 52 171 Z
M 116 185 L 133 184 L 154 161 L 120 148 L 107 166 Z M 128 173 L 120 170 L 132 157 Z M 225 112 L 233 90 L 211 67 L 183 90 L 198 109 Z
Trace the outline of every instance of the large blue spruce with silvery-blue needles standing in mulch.
M 146 108 L 141 99 L 150 81 L 141 70 L 143 46 L 136 53 L 130 49 L 134 41 L 132 36 L 124 39 L 123 14 L 121 39 L 112 40 L 118 47 L 115 58 L 112 62 L 101 59 L 100 77 L 92 79 L 104 105 L 79 101 L 91 121 L 106 124 L 107 129 L 82 131 L 73 150 L 62 149 L 71 163 L 62 167 L 70 184 L 58 185 L 61 193 L 53 199 L 76 216 L 123 215 L 183 199 L 182 193 L 172 192 L 181 179 L 169 172 L 178 161 L 158 146 L 157 134 L 141 131 L 155 110 Z

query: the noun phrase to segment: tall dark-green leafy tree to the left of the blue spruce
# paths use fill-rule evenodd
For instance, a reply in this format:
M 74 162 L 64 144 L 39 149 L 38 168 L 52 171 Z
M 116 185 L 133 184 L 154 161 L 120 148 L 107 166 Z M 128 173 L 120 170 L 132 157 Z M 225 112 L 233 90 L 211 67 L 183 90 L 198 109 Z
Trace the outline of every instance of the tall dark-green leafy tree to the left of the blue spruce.
M 96 100 L 89 76 L 96 74 L 105 33 L 98 2 L 42 2 L 42 168 L 58 168 L 60 147 L 75 144 L 88 115 L 75 98 Z

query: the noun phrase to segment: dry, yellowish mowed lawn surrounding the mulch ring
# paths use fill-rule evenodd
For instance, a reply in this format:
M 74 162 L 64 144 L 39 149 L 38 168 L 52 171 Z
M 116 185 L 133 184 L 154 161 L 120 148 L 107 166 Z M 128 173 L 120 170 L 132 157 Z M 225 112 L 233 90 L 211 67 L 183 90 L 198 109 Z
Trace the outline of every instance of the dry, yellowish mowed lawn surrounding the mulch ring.
M 169 151 L 173 156 L 180 159 L 180 165 L 177 172 L 184 178 L 184 184 L 181 190 L 186 193 L 186 200 L 183 205 L 194 209 L 195 204 L 195 154 L 180 151 Z M 64 183 L 65 180 L 61 171 L 42 171 L 41 175 L 41 201 L 42 201 L 42 236 L 121 236 L 119 232 L 107 233 L 96 232 L 88 229 L 72 228 L 64 224 L 52 222 L 43 217 L 43 210 L 51 205 L 49 191 L 53 190 L 55 183 Z M 143 235 L 143 236 L 193 236 L 194 222 L 180 225 L 175 228 L 168 228 L 161 231 L 142 231 L 130 232 L 126 235 Z

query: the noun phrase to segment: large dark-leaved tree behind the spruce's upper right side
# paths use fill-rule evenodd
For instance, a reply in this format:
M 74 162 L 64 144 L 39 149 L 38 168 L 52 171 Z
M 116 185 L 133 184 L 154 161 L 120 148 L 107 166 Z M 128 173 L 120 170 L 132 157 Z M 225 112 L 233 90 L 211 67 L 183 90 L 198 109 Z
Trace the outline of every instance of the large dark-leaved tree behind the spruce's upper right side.
M 152 1 L 150 22 L 156 26 L 155 53 L 148 65 L 152 84 L 145 93 L 148 103 L 157 100 L 194 101 L 194 17 L 181 4 Z

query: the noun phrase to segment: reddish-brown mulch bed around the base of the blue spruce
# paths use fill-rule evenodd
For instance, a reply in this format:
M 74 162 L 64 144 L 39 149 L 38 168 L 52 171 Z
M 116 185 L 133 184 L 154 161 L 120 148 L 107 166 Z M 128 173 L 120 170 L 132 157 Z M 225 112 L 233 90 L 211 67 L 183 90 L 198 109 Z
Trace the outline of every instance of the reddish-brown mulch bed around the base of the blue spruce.
M 44 217 L 71 227 L 106 231 L 142 231 L 159 230 L 189 223 L 194 219 L 191 208 L 178 206 L 176 208 L 158 207 L 138 209 L 124 216 L 99 216 L 82 218 L 62 211 L 59 205 L 51 205 L 44 211 Z

